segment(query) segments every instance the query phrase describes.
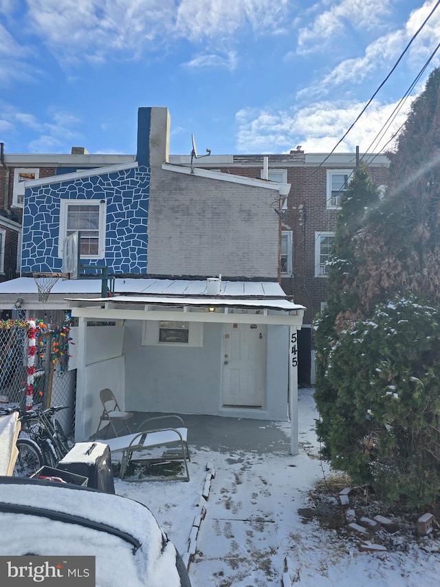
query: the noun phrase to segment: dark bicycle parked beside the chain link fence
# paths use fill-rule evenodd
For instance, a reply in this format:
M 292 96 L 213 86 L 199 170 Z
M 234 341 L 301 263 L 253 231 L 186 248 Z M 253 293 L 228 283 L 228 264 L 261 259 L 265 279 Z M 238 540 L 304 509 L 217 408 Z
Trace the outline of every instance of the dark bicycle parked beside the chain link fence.
M 69 406 L 52 406 L 47 409 L 25 411 L 19 408 L 5 409 L 4 413 L 19 412 L 21 432 L 17 439 L 17 457 L 14 468 L 14 476 L 29 477 L 47 465 L 56 467 L 70 450 L 69 439 L 63 431 L 63 427 L 54 417 L 56 412 L 67 409 Z

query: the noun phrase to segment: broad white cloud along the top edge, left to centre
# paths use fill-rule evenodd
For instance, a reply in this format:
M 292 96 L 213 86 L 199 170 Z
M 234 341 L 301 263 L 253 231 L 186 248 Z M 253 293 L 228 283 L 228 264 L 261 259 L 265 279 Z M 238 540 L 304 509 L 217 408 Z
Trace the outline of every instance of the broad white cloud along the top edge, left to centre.
M 241 28 L 283 30 L 289 0 L 32 0 L 28 20 L 56 58 L 139 58 L 185 39 L 217 47 Z

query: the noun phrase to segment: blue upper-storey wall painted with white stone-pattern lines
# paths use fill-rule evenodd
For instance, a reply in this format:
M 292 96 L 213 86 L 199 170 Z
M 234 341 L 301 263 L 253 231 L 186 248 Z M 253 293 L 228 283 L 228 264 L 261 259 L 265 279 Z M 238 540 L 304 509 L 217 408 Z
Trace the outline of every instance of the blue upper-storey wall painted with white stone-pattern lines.
M 144 137 L 148 145 L 148 135 Z M 142 158 L 144 160 L 144 158 Z M 109 266 L 110 273 L 146 273 L 147 222 L 151 169 L 94 173 L 85 178 L 27 189 L 23 209 L 22 273 L 61 271 L 58 257 L 60 201 L 106 200 L 105 259 L 85 264 Z

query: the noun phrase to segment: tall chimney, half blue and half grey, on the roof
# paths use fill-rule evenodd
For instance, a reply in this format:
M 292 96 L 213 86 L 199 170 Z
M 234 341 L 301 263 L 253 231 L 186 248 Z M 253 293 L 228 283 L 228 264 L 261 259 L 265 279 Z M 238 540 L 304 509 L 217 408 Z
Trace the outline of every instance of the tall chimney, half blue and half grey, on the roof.
M 154 106 L 137 110 L 137 155 L 140 167 L 160 167 L 168 162 L 170 148 L 170 113 Z

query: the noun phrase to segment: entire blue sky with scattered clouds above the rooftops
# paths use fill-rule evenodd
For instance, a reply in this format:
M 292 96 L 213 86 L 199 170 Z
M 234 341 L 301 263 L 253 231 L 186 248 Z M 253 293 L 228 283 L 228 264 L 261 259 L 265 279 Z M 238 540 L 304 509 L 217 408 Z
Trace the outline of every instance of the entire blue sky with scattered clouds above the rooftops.
M 170 153 L 328 152 L 434 0 L 0 0 L 6 153 L 135 153 L 166 106 Z M 440 39 L 440 7 L 338 151 L 371 143 Z

